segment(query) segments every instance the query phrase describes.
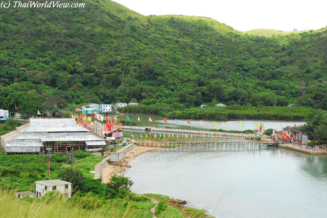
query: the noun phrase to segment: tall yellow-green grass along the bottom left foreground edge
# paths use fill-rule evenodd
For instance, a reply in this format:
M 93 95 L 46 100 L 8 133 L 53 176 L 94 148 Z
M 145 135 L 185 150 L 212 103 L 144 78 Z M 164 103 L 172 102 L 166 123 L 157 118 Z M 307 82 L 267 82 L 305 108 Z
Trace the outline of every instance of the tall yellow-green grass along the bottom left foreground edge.
M 15 193 L 0 191 L 0 217 L 150 217 L 154 205 L 150 201 L 134 202 L 129 199 L 108 200 L 101 207 L 82 209 L 85 202 L 64 201 L 59 195 L 44 196 L 42 199 L 18 199 Z M 88 201 L 99 201 L 91 197 Z M 82 200 L 83 201 L 83 200 Z

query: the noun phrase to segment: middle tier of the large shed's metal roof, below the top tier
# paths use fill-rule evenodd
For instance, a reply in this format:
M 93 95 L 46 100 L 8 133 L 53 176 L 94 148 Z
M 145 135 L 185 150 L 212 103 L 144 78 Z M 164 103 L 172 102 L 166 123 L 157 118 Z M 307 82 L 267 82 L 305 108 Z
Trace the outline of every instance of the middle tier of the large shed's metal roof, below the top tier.
M 42 142 L 103 141 L 88 132 L 22 132 L 16 139 L 41 139 Z

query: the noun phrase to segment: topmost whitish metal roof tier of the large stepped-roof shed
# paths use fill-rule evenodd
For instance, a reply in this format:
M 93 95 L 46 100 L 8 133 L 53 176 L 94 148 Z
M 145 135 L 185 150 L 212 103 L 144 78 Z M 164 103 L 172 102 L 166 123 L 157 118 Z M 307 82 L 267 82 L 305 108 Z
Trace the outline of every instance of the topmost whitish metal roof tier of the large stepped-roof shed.
M 20 132 L 88 132 L 89 130 L 78 125 L 73 118 L 60 119 L 30 119 L 30 127 Z

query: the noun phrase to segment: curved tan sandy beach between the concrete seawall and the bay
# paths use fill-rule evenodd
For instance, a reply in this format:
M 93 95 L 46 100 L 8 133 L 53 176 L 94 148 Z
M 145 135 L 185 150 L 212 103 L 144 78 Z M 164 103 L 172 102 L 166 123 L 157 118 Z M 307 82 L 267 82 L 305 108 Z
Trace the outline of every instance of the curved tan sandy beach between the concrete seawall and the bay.
M 144 147 L 144 146 L 137 146 L 136 148 L 134 148 L 131 152 L 129 152 L 125 157 L 124 160 L 126 162 L 129 162 L 133 159 L 135 159 L 135 157 L 144 154 L 148 151 L 153 151 L 153 150 L 157 150 L 157 149 L 162 149 L 161 147 Z M 111 175 L 118 175 L 121 176 L 123 175 L 123 173 L 126 171 L 127 167 L 126 167 L 126 163 L 121 160 L 120 161 L 120 166 L 119 165 L 110 165 L 109 167 L 107 167 L 106 169 L 103 170 L 103 175 L 104 175 L 104 182 L 107 183 L 111 177 Z

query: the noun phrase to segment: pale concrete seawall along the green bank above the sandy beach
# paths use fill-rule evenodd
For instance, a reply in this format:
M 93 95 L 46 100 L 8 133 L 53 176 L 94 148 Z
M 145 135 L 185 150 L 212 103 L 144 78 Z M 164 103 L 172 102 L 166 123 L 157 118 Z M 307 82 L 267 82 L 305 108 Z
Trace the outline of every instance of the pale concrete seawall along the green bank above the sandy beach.
M 131 141 L 131 143 L 129 143 L 124 148 L 120 149 L 119 151 L 114 152 L 112 155 L 114 157 L 118 158 L 119 160 L 121 160 L 122 157 L 124 157 L 126 154 L 131 152 L 136 147 L 134 140 L 130 140 L 130 141 Z M 109 160 L 112 160 L 112 156 L 108 156 L 108 157 L 104 158 L 101 162 L 99 162 L 95 166 L 95 168 L 94 168 L 94 178 L 95 179 L 101 178 L 102 182 L 104 182 L 103 170 L 110 166 Z

